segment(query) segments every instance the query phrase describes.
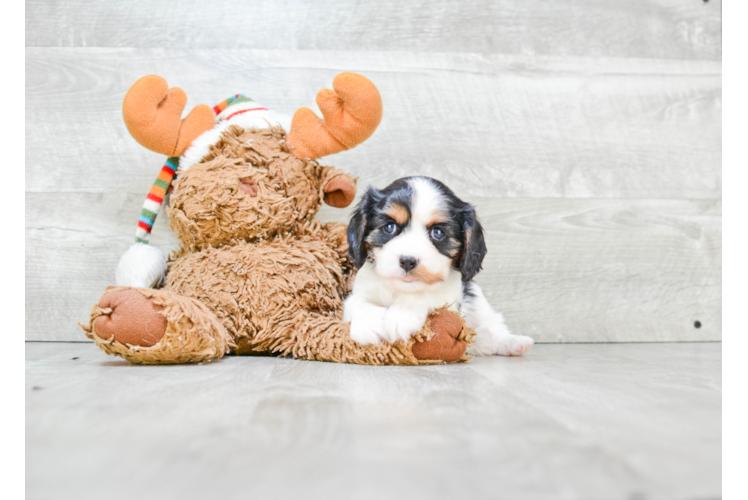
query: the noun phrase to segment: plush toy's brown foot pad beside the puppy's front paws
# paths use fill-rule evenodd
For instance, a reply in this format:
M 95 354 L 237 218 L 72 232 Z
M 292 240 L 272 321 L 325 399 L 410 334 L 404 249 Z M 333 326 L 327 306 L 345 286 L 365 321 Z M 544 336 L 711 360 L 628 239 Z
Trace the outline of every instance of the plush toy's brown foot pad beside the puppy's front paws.
M 429 314 L 411 349 L 419 360 L 453 363 L 463 359 L 474 335 L 475 332 L 464 325 L 458 313 L 439 309 Z

